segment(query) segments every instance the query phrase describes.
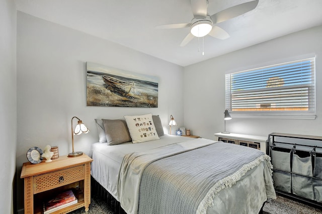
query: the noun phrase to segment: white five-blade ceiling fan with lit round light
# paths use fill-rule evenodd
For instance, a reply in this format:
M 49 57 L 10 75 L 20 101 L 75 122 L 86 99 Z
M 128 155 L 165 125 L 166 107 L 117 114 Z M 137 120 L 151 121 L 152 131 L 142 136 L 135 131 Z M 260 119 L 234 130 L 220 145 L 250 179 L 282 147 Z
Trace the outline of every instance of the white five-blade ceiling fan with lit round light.
M 259 0 L 243 3 L 220 11 L 214 15 L 207 14 L 208 0 L 191 0 L 191 8 L 194 18 L 190 23 L 159 25 L 157 29 L 188 28 L 190 33 L 184 38 L 180 46 L 187 45 L 194 37 L 210 35 L 217 39 L 227 39 L 229 34 L 215 24 L 227 21 L 254 10 Z

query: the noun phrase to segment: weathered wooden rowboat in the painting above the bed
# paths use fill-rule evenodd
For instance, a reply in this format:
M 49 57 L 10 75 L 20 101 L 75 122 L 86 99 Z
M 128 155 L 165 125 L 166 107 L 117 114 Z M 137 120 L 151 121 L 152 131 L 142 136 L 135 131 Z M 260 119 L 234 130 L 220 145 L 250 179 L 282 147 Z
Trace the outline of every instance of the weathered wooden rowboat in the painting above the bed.
M 119 93 L 123 96 L 127 95 L 134 85 L 134 82 L 124 81 L 107 75 L 103 75 L 103 80 L 108 85 L 109 90 Z

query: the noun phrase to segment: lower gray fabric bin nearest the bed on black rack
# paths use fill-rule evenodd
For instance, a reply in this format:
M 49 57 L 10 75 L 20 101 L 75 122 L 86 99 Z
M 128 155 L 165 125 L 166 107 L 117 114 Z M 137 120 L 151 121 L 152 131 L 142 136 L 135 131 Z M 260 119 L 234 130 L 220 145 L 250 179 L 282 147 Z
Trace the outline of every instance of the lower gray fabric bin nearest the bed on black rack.
M 291 193 L 291 179 L 291 173 L 274 169 L 273 181 L 276 190 Z

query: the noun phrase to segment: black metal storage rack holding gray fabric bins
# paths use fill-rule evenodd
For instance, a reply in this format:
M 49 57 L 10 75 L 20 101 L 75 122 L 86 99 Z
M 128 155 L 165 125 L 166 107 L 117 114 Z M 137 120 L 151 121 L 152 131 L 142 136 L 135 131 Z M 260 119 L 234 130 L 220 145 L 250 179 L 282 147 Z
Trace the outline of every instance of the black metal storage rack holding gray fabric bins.
M 275 191 L 322 209 L 322 137 L 271 133 Z

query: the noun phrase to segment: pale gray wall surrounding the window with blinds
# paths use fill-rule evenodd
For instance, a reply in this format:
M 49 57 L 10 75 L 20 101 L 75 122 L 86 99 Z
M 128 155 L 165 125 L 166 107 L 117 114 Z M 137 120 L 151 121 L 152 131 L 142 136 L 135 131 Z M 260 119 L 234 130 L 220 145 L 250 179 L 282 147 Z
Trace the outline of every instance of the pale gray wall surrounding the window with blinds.
M 251 37 L 250 37 L 251 38 Z M 322 26 L 286 35 L 184 68 L 185 127 L 194 135 L 214 139 L 224 130 L 225 73 L 287 62 L 302 55 L 316 55 L 316 119 L 276 120 L 233 118 L 231 133 L 268 136 L 272 132 L 317 135 L 322 131 Z

